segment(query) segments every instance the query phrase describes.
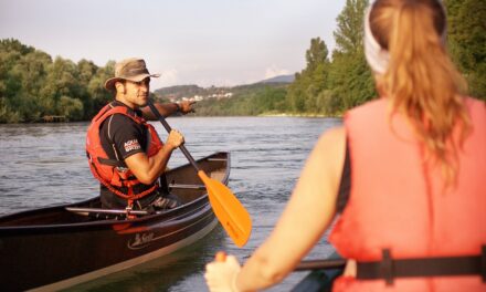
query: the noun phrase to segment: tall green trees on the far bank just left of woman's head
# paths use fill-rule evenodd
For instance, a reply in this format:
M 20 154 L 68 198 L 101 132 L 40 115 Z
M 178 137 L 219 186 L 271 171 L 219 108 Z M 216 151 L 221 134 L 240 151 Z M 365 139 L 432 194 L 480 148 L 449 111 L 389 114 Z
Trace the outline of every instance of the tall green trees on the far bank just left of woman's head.
M 293 113 L 340 115 L 373 98 L 373 79 L 363 52 L 363 14 L 367 0 L 347 0 L 337 17 L 336 49 L 329 58 L 320 38 L 310 40 L 306 67 L 296 73 L 286 101 Z

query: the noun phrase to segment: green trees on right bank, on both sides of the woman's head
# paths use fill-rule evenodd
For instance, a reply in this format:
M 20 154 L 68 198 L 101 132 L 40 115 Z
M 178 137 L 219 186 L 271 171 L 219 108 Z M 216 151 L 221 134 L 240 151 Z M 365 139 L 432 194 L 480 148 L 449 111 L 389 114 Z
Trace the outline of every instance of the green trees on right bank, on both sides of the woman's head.
M 278 91 L 268 86 L 233 101 L 203 104 L 202 113 L 341 115 L 377 96 L 363 52 L 363 15 L 368 0 L 347 0 L 337 17 L 336 49 L 329 56 L 320 38 L 310 40 L 306 67 Z M 469 94 L 486 100 L 486 1 L 445 0 L 448 19 L 447 50 L 469 84 Z M 255 96 L 257 95 L 257 97 Z M 258 103 L 258 100 L 265 100 Z M 209 109 L 207 108 L 209 107 Z M 242 108 L 245 108 L 244 112 Z M 244 112 L 244 113 L 242 113 Z

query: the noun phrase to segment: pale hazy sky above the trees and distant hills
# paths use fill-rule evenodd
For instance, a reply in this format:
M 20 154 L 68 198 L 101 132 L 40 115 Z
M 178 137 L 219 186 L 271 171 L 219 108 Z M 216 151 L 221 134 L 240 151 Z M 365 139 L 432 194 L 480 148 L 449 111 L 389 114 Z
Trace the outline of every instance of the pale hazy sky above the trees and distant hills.
M 234 86 L 305 67 L 329 51 L 345 0 L 0 0 L 0 39 L 104 66 L 146 60 L 151 87 Z

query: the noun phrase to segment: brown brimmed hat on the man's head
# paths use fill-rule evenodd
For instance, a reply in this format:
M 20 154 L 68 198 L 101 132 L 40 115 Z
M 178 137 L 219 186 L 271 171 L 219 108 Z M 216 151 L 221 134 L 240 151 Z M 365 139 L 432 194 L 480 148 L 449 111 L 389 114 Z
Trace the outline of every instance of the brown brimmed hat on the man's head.
M 105 88 L 108 91 L 115 90 L 115 82 L 120 80 L 128 80 L 133 82 L 140 82 L 146 77 L 159 77 L 160 74 L 148 73 L 144 59 L 130 58 L 122 60 L 115 64 L 115 77 L 105 82 Z

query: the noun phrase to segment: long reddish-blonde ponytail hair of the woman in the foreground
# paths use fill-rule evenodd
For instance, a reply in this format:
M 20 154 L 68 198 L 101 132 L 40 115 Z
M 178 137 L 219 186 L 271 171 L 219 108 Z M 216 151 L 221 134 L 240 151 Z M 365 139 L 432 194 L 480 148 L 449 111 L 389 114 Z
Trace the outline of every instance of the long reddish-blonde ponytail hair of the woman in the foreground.
M 403 113 L 423 142 L 427 158 L 442 167 L 445 186 L 455 182 L 457 147 L 471 127 L 461 96 L 466 83 L 444 45 L 445 11 L 439 0 L 377 0 L 370 29 L 390 53 L 381 76 L 393 112 Z M 458 129 L 457 129 L 458 128 Z M 454 132 L 459 131 L 458 140 Z

